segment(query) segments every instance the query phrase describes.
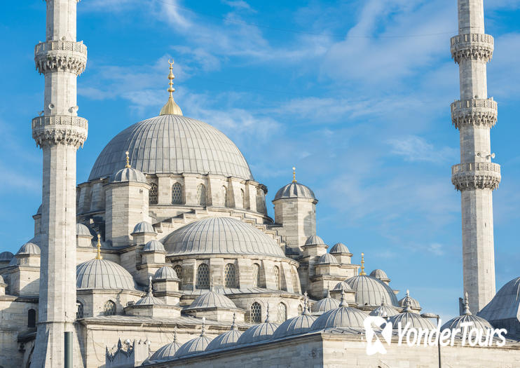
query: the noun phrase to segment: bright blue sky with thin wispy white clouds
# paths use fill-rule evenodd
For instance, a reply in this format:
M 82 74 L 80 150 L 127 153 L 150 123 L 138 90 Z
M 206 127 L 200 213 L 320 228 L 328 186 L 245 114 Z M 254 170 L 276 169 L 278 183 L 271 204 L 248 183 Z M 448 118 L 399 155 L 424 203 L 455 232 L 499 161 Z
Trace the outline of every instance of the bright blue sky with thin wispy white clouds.
M 495 37 L 488 94 L 499 103 L 491 142 L 502 165 L 494 195 L 500 287 L 519 275 L 520 261 L 520 0 L 485 3 Z M 45 3 L 9 1 L 0 20 L 0 236 L 1 250 L 15 252 L 32 238 L 41 203 L 30 122 L 43 104 L 33 50 L 45 38 Z M 463 279 L 449 104 L 459 90 L 449 38 L 457 29 L 451 0 L 81 1 L 88 65 L 78 114 L 89 136 L 78 182 L 111 137 L 158 114 L 173 57 L 184 115 L 238 145 L 269 203 L 296 165 L 320 200 L 319 236 L 348 245 L 356 263 L 364 252 L 368 271 L 385 270 L 399 297 L 408 288 L 425 311 L 455 315 Z

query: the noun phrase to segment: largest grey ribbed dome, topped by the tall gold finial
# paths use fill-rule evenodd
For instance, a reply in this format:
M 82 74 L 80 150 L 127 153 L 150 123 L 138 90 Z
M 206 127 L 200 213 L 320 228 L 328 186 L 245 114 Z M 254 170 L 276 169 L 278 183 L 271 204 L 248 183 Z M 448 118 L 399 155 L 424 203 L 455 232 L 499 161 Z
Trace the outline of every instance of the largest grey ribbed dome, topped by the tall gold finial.
M 104 147 L 89 180 L 108 177 L 130 163 L 145 174 L 217 174 L 253 179 L 231 139 L 207 123 L 181 115 L 149 118 L 126 128 Z

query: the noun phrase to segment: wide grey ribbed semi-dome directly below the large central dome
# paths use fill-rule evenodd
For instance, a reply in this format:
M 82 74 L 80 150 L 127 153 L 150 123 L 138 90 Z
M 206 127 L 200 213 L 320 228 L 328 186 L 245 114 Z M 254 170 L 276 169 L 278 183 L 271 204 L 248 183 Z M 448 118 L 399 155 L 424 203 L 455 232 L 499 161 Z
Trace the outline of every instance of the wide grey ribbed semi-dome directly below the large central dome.
M 273 238 L 231 217 L 207 217 L 191 222 L 167 236 L 164 245 L 170 255 L 258 254 L 285 257 Z

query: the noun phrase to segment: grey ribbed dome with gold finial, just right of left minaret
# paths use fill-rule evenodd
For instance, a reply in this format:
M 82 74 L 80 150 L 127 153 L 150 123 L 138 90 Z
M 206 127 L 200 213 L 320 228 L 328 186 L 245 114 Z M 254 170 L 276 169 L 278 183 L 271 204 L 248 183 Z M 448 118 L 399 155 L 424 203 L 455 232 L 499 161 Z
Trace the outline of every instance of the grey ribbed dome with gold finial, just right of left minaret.
M 135 290 L 135 281 L 122 266 L 105 259 L 91 259 L 76 267 L 76 287 Z

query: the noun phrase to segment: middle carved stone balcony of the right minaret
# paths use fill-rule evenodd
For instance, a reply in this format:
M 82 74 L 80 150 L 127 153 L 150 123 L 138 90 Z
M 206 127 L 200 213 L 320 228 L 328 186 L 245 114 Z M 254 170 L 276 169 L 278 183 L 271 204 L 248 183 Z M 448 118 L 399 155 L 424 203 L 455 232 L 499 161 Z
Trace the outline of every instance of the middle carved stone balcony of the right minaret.
M 497 121 L 497 103 L 487 99 L 457 100 L 451 104 L 451 121 L 455 128 L 463 125 L 484 125 L 493 128 Z

